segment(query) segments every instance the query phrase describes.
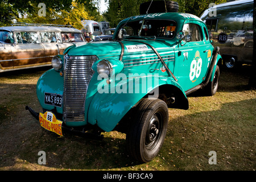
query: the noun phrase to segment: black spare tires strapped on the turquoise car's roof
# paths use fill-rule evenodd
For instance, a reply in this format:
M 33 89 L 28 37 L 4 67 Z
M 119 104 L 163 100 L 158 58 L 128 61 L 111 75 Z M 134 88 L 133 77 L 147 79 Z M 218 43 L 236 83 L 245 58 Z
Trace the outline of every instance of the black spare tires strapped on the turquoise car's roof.
M 151 5 L 150 5 L 151 4 Z M 148 9 L 149 7 L 149 9 Z M 167 12 L 178 12 L 179 11 L 179 3 L 175 1 L 149 1 L 141 3 L 139 6 L 139 13 L 166 13 Z

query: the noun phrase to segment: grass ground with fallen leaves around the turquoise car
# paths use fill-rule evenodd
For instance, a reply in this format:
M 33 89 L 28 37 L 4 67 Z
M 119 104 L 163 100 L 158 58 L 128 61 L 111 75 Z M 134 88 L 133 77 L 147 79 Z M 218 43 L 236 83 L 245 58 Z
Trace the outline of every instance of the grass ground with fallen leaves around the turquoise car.
M 222 71 L 216 95 L 188 96 L 189 110 L 169 109 L 167 136 L 149 163 L 127 156 L 125 134 L 103 133 L 103 141 L 44 130 L 25 106 L 40 111 L 36 82 L 46 69 L 0 75 L 0 170 L 253 171 L 256 92 L 247 90 L 249 67 Z M 38 164 L 39 151 L 46 164 Z M 217 164 L 209 164 L 209 152 Z

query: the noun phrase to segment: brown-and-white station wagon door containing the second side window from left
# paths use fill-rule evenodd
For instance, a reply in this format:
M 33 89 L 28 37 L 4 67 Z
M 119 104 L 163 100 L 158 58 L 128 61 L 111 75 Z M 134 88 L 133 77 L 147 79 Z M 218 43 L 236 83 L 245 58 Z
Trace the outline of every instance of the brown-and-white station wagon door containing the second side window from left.
M 14 69 L 44 65 L 45 54 L 37 31 L 15 32 L 17 43 L 11 47 Z

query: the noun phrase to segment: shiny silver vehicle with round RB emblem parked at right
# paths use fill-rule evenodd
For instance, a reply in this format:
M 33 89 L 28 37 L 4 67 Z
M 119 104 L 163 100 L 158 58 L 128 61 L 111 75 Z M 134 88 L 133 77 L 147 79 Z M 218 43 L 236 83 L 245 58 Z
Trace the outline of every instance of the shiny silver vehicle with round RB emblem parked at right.
M 220 47 L 223 64 L 234 68 L 253 61 L 253 0 L 221 3 L 200 17 L 213 45 Z

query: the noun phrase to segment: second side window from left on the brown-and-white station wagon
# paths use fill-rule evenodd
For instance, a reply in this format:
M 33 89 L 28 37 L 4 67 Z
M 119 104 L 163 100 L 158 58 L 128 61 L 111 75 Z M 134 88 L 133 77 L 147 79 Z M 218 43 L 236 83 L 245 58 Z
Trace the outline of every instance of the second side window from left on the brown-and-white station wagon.
M 18 44 L 39 44 L 38 32 L 18 32 L 16 39 Z

